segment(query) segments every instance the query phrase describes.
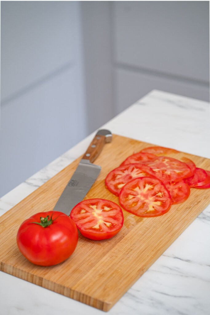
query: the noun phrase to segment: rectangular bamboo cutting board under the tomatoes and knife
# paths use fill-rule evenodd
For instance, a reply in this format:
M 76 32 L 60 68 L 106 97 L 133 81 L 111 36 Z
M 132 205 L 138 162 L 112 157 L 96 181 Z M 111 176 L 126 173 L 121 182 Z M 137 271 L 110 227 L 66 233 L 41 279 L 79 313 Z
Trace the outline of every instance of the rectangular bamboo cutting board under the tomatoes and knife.
M 151 144 L 113 135 L 112 142 L 104 146 L 94 162 L 102 170 L 86 199 L 105 198 L 118 203 L 118 197 L 105 188 L 106 175 L 147 146 Z M 210 169 L 207 158 L 177 153 L 176 158 L 181 157 L 190 158 L 197 167 Z M 79 233 L 77 248 L 69 259 L 56 266 L 35 266 L 18 250 L 18 228 L 31 215 L 54 208 L 79 160 L 0 217 L 0 270 L 108 311 L 207 207 L 210 190 L 191 188 L 184 203 L 172 205 L 169 212 L 154 218 L 140 218 L 123 210 L 124 225 L 115 237 L 92 241 Z

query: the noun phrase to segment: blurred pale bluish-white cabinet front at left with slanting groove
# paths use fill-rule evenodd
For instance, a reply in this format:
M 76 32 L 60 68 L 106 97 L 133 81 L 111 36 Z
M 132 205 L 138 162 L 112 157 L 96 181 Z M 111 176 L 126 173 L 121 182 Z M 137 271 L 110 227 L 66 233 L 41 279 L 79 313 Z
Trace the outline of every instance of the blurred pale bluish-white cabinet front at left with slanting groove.
M 78 2 L 1 2 L 0 196 L 87 135 Z

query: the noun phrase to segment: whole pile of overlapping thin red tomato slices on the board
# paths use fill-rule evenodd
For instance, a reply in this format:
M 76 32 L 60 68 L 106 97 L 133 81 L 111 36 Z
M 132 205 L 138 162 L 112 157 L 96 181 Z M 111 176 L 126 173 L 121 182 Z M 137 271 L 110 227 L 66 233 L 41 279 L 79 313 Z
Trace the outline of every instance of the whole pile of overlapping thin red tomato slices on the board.
M 190 187 L 210 188 L 210 171 L 197 168 L 186 157 L 170 157 L 177 153 L 161 146 L 145 148 L 111 170 L 105 185 L 128 212 L 140 217 L 163 215 L 189 197 Z

